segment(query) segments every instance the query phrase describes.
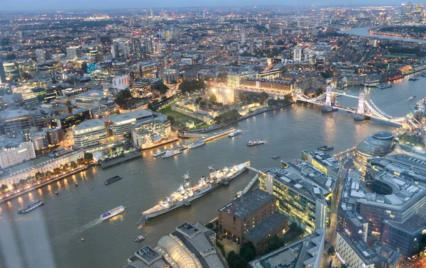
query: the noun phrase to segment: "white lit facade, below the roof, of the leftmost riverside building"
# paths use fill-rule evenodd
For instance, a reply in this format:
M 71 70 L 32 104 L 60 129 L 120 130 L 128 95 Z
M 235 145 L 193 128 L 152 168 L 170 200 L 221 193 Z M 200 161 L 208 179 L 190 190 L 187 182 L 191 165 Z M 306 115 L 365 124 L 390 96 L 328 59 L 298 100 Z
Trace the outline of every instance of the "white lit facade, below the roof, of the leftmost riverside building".
M 30 141 L 0 149 L 0 167 L 3 169 L 33 158 L 35 158 L 35 152 L 33 143 Z

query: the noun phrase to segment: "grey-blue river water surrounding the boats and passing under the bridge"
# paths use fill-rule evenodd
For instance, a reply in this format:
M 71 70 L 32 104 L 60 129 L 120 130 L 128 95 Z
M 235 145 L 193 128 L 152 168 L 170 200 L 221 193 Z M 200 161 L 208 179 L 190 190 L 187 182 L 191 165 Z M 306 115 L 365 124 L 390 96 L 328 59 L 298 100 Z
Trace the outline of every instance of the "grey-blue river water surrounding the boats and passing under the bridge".
M 424 96 L 425 82 L 423 77 L 417 82 L 405 78 L 390 89 L 371 89 L 371 99 L 391 116 L 403 116 L 415 105 L 415 101 L 408 101 L 409 96 Z M 349 90 L 359 91 L 359 87 Z M 340 104 L 356 106 L 355 99 L 342 96 L 338 100 Z M 350 113 L 342 111 L 323 114 L 320 107 L 307 104 L 293 104 L 233 126 L 244 133 L 213 140 L 165 160 L 152 157 L 153 150 L 141 152 L 140 159 L 108 169 L 92 167 L 84 172 L 84 177 L 78 174 L 2 204 L 0 267 L 123 267 L 138 248 L 155 246 L 161 236 L 185 220 L 205 222 L 217 216 L 217 210 L 255 175 L 244 172 L 229 186 L 219 187 L 190 207 L 136 225 L 141 212 L 172 193 L 186 172 L 195 183 L 208 174 L 209 164 L 222 169 L 251 161 L 257 169 L 278 167 L 279 161 L 271 159 L 273 155 L 283 159 L 300 157 L 301 150 L 321 145 L 334 145 L 333 152 L 340 152 L 374 131 L 394 129 L 384 123 L 354 121 Z M 248 140 L 256 138 L 266 140 L 266 144 L 246 146 Z M 104 186 L 104 180 L 116 174 L 124 178 Z M 75 187 L 74 182 L 79 186 Z M 56 190 L 58 196 L 54 194 Z M 34 199 L 43 199 L 45 205 L 24 215 L 16 213 L 22 204 Z M 128 211 L 105 222 L 99 220 L 101 213 L 120 205 Z M 141 244 L 133 242 L 141 234 L 147 235 L 146 240 Z

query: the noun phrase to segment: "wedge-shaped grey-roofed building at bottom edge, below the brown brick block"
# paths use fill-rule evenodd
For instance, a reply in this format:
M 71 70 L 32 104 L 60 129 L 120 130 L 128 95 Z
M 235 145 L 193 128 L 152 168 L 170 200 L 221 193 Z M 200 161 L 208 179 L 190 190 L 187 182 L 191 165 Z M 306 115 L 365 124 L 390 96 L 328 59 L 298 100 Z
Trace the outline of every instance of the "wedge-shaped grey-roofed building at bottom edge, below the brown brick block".
M 300 238 L 278 250 L 253 259 L 251 268 L 320 268 L 324 253 L 325 228 L 316 230 L 311 235 Z

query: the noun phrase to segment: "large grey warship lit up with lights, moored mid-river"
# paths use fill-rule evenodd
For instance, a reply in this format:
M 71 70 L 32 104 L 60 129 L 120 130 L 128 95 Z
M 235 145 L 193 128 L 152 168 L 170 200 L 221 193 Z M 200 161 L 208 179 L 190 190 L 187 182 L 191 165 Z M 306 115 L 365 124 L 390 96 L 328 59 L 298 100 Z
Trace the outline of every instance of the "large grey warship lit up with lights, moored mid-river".
M 181 206 L 187 206 L 191 201 L 204 196 L 209 191 L 213 191 L 218 186 L 230 182 L 232 179 L 237 177 L 239 174 L 244 172 L 247 167 L 250 166 L 250 162 L 244 162 L 237 164 L 234 167 L 224 169 L 213 169 L 209 167 L 209 177 L 201 177 L 197 184 L 190 186 L 189 174 L 184 175 L 184 183 L 180 184 L 178 189 L 175 189 L 170 196 L 166 197 L 165 200 L 160 201 L 156 206 L 143 212 L 143 218 L 148 220 L 156 216 L 160 216 L 168 211 L 173 211 L 175 208 Z

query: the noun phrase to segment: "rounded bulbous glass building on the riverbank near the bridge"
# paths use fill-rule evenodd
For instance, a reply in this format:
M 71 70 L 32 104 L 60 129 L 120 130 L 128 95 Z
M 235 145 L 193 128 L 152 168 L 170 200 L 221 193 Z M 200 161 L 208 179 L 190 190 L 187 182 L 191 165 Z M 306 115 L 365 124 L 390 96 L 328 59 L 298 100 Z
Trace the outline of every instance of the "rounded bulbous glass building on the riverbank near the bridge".
M 368 135 L 356 146 L 355 167 L 365 172 L 368 158 L 388 155 L 392 150 L 392 143 L 393 134 L 388 131 L 378 131 Z

